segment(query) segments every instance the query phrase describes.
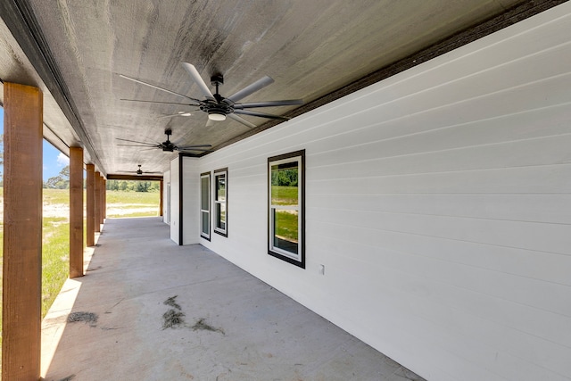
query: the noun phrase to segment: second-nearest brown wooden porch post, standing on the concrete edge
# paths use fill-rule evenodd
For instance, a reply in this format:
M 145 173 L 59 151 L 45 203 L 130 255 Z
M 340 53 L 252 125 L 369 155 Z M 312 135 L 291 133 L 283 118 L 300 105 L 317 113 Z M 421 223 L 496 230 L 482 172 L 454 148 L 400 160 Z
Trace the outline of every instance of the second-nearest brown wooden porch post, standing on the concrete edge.
M 83 277 L 83 148 L 70 147 L 70 277 Z

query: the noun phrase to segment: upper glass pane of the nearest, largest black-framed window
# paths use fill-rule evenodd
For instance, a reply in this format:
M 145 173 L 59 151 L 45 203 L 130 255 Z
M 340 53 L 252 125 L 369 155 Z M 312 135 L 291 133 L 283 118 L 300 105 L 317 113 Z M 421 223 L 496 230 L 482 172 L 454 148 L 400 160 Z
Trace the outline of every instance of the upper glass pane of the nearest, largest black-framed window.
M 297 205 L 298 162 L 286 162 L 271 166 L 272 205 Z

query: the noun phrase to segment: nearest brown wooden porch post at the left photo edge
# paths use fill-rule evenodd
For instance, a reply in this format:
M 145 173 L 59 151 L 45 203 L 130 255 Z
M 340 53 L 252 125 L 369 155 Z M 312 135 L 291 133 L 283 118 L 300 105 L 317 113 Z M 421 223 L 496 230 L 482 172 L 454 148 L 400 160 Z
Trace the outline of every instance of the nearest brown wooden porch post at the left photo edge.
M 5 380 L 37 380 L 40 373 L 42 112 L 37 87 L 4 82 Z

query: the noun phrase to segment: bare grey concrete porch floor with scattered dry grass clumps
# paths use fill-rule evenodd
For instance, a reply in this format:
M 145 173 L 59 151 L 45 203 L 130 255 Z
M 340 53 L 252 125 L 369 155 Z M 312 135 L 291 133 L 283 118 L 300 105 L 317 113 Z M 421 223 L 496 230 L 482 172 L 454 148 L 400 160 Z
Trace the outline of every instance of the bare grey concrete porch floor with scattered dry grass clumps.
M 44 379 L 422 380 L 169 232 L 161 218 L 105 221 L 86 276 L 43 321 Z

